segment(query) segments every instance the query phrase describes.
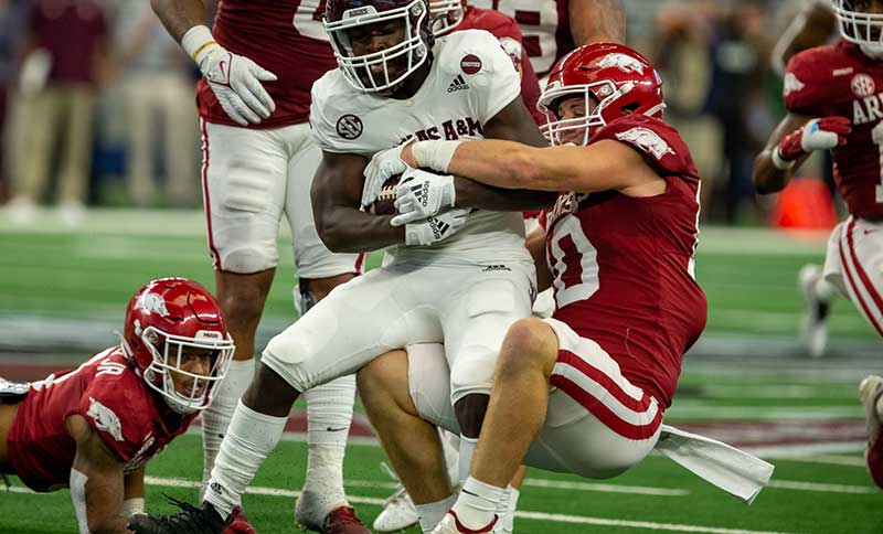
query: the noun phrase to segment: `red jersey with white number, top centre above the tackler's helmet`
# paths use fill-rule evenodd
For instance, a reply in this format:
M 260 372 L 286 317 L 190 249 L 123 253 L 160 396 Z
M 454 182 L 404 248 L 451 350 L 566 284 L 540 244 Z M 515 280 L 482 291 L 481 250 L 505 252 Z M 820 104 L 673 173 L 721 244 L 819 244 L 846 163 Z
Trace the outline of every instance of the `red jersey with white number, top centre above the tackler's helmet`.
M 571 34 L 568 0 L 469 0 L 477 8 L 496 9 L 518 22 L 524 50 L 539 77 L 576 46 Z

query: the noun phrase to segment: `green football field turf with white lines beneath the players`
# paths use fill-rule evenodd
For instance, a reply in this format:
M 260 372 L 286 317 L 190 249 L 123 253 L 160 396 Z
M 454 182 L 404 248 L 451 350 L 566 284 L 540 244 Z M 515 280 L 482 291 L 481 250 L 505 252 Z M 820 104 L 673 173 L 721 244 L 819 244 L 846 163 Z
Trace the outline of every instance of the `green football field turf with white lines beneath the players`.
M 291 253 L 285 235 L 279 243 L 280 268 L 263 323 L 270 334 L 294 319 Z M 653 456 L 608 481 L 531 471 L 517 532 L 883 532 L 883 495 L 863 467 L 855 387 L 864 374 L 883 369 L 883 345 L 847 301 L 832 310 L 830 356 L 808 360 L 796 341 L 796 273 L 805 263 L 822 261 L 823 250 L 823 235 L 724 228 L 701 235 L 696 274 L 709 296 L 709 327 L 684 360 L 666 419 L 775 463 L 770 485 L 753 505 Z M 376 263 L 375 256 L 371 265 Z M 66 359 L 85 359 L 91 353 L 81 348 L 97 351 L 113 340 L 109 330 L 121 327 L 125 302 L 152 277 L 188 276 L 213 287 L 196 213 L 97 212 L 73 232 L 53 223 L 50 213 L 39 225 L 13 227 L 0 212 L 0 350 L 43 352 L 44 342 L 55 339 L 54 352 L 77 348 Z M 49 356 L 25 357 L 41 363 Z M 22 356 L 0 354 L 0 375 L 4 361 Z M 305 459 L 305 445 L 292 435 L 258 473 L 244 501 L 258 533 L 295 532 L 292 503 Z M 368 521 L 393 488 L 379 469 L 383 459 L 370 439 L 348 449 L 347 491 Z M 148 510 L 172 511 L 163 493 L 193 501 L 201 462 L 198 434 L 179 438 L 151 461 Z M 74 532 L 66 491 L 0 491 L 0 533 Z

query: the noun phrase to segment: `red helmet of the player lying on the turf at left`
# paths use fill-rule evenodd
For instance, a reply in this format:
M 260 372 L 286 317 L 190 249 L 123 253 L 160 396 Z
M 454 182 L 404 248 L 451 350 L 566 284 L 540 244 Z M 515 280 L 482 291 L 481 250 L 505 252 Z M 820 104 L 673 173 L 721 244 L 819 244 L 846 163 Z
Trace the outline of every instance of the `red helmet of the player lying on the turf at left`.
M 181 369 L 185 348 L 215 351 L 208 374 Z M 211 404 L 213 386 L 224 380 L 234 345 L 217 301 L 204 287 L 187 278 L 159 278 L 129 301 L 123 350 L 174 412 L 190 414 Z M 172 371 L 192 378 L 190 394 L 174 387 Z

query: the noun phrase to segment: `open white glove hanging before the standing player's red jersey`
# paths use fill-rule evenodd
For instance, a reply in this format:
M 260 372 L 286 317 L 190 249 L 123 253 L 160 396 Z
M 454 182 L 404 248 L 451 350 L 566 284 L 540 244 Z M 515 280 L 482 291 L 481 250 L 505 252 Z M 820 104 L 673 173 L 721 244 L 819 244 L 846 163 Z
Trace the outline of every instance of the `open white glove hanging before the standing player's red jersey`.
M 236 124 L 257 125 L 276 110 L 276 104 L 262 85 L 275 82 L 276 75 L 217 44 L 206 26 L 191 28 L 181 46 L 196 62 L 224 113 Z

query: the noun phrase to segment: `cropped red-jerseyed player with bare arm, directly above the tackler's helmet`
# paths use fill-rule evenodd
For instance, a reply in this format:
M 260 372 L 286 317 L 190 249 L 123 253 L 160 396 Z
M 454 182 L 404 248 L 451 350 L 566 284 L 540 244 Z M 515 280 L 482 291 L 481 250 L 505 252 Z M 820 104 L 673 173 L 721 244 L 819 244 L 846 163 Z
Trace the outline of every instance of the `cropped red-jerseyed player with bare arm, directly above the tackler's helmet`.
M 540 77 L 576 46 L 624 42 L 626 15 L 620 0 L 470 0 L 515 19 L 524 50 Z

